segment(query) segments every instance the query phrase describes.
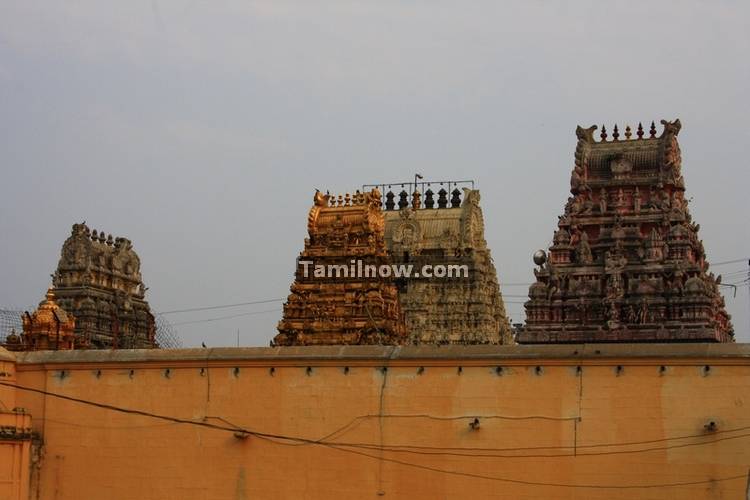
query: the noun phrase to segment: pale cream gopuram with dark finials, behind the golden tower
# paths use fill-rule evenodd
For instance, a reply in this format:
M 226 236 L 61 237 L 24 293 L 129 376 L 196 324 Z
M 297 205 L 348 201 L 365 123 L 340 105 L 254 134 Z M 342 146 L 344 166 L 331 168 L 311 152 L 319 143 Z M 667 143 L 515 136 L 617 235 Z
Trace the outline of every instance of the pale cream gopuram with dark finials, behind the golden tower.
M 384 185 L 385 244 L 393 260 L 466 266 L 465 278 L 412 275 L 399 280 L 399 301 L 413 344 L 513 342 L 497 272 L 484 239 L 479 190 L 472 181 Z M 460 186 L 463 187 L 459 190 Z M 407 189 L 409 192 L 407 192 Z M 450 190 L 450 192 L 449 192 Z M 398 191 L 398 189 L 397 189 Z M 398 197 L 398 200 L 396 200 Z

